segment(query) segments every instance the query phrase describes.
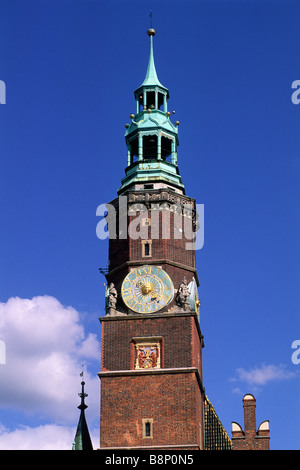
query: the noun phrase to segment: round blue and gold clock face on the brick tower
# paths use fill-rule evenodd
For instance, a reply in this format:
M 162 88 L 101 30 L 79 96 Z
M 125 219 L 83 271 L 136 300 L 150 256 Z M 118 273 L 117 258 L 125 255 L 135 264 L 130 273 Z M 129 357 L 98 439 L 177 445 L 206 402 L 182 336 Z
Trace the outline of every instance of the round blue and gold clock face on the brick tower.
M 138 313 L 157 312 L 174 296 L 174 287 L 169 275 L 157 266 L 135 268 L 122 284 L 125 305 Z

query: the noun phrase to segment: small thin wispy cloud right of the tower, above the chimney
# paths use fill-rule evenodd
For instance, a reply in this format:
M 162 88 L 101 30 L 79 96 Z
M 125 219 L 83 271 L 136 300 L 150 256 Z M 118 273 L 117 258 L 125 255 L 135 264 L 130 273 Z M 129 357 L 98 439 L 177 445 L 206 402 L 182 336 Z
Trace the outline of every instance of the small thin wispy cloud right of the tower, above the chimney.
M 287 380 L 295 376 L 294 372 L 288 371 L 284 365 L 263 364 L 260 367 L 246 370 L 242 367 L 236 369 L 237 377 L 232 381 L 245 382 L 248 385 L 266 385 L 273 380 Z

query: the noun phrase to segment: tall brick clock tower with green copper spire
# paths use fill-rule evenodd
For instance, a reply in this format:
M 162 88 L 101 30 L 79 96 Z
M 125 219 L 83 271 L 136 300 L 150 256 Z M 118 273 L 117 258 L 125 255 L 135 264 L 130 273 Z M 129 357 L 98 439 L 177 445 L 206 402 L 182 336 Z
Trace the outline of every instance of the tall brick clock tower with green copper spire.
M 178 161 L 179 122 L 158 80 L 153 38 L 126 124 L 127 167 L 107 204 L 109 264 L 101 321 L 101 449 L 204 448 L 203 336 L 196 202 Z

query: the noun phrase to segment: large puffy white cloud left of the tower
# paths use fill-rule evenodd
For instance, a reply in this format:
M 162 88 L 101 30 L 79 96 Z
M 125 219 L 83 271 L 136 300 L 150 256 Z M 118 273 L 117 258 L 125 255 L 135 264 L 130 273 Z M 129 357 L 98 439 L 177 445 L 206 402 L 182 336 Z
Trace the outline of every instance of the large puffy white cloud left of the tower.
M 99 342 L 85 333 L 79 313 L 50 296 L 11 298 L 0 303 L 0 339 L 6 346 L 6 364 L 0 365 L 0 407 L 56 425 L 76 422 L 81 365 L 85 360 L 100 362 Z M 99 416 L 99 378 L 87 370 L 85 382 L 89 412 Z M 29 433 L 29 428 L 21 431 L 26 430 Z

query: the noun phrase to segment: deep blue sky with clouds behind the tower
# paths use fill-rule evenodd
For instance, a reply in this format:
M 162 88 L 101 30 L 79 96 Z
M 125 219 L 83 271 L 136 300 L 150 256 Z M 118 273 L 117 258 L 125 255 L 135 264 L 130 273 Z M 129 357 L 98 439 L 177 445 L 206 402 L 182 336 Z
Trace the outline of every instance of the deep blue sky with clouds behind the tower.
M 205 207 L 206 393 L 230 436 L 253 393 L 271 448 L 300 448 L 300 5 L 287 0 L 0 1 L 0 448 L 71 447 L 82 364 L 98 445 L 96 208 L 124 176 L 151 7 L 180 173 Z

